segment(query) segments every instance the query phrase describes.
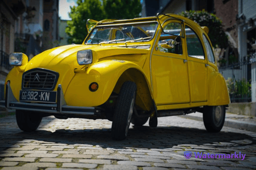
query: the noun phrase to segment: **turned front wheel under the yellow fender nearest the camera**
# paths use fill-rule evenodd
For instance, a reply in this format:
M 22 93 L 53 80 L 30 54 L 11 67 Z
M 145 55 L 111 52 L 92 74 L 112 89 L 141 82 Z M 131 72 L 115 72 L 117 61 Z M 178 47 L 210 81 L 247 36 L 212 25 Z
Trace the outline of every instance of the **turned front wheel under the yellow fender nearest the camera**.
M 111 135 L 115 140 L 123 140 L 127 137 L 135 104 L 136 90 L 137 86 L 134 82 L 126 81 L 119 92 L 111 128 Z

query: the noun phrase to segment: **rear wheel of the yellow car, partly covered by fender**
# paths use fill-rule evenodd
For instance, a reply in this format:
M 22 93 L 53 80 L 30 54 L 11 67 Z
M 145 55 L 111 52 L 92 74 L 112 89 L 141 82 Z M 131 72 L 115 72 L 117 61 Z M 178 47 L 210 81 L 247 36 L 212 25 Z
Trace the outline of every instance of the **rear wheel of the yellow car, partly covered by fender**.
M 204 106 L 203 120 L 208 132 L 219 132 L 225 122 L 226 109 L 223 106 Z

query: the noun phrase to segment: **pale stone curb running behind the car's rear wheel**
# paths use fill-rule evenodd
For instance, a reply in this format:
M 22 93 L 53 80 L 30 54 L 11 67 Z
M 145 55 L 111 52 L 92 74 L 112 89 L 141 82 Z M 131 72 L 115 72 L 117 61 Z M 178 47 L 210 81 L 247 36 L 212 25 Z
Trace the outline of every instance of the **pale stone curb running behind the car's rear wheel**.
M 192 116 L 192 115 L 180 115 L 183 118 L 189 118 L 191 120 L 203 121 L 203 117 Z M 237 121 L 230 118 L 225 118 L 224 126 L 229 128 L 244 129 L 246 131 L 256 132 L 256 123 L 247 121 Z

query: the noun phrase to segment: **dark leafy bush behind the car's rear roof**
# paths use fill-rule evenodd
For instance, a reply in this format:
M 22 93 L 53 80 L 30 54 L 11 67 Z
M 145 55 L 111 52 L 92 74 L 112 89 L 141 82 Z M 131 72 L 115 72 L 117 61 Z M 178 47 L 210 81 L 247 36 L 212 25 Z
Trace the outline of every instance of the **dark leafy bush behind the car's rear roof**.
M 209 28 L 208 36 L 211 39 L 213 47 L 226 48 L 228 38 L 223 30 L 222 21 L 216 15 L 203 11 L 185 11 L 180 15 L 193 20 L 200 26 Z

